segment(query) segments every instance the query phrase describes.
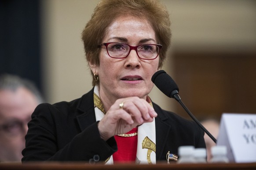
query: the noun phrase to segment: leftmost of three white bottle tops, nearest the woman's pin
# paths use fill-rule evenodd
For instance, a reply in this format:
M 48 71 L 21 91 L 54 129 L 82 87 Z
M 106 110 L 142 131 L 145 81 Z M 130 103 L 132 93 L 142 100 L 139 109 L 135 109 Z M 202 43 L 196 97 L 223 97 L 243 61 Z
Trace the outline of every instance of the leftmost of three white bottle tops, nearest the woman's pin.
M 194 146 L 179 146 L 177 163 L 195 163 L 194 159 Z

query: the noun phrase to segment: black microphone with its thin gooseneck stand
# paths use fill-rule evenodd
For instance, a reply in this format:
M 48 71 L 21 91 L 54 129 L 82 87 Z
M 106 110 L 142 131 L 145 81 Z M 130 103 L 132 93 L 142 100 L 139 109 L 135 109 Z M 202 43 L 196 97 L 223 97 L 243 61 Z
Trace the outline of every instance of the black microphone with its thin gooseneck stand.
M 216 138 L 210 134 L 210 132 L 194 117 L 194 115 L 188 110 L 187 106 L 182 102 L 179 97 L 179 88 L 175 81 L 163 70 L 157 71 L 151 78 L 151 81 L 161 90 L 166 96 L 176 99 L 189 116 L 198 124 L 199 127 L 213 140 L 217 142 Z

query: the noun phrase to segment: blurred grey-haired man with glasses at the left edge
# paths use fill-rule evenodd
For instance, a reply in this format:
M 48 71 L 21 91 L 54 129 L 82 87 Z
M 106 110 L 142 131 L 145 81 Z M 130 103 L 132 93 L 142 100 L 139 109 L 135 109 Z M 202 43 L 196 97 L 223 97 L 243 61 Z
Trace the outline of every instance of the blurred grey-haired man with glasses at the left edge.
M 27 123 L 42 102 L 31 81 L 11 74 L 0 75 L 0 162 L 21 161 Z

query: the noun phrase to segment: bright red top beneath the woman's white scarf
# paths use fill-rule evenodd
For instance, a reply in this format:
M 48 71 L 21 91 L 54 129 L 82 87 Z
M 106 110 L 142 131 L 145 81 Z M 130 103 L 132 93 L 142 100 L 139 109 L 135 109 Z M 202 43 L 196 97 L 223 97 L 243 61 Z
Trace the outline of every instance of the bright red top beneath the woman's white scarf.
M 126 134 L 138 132 L 138 127 L 133 128 Z M 135 162 L 137 153 L 138 135 L 131 137 L 114 136 L 117 142 L 117 152 L 113 154 L 114 163 Z

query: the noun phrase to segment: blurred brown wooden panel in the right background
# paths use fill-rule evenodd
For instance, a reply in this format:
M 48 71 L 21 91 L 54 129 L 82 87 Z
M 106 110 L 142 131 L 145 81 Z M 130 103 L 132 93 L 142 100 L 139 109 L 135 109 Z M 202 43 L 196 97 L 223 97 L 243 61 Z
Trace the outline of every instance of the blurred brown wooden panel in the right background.
M 256 53 L 174 53 L 179 94 L 199 118 L 256 113 Z M 177 113 L 188 117 L 176 103 Z

